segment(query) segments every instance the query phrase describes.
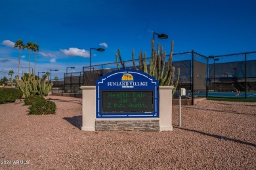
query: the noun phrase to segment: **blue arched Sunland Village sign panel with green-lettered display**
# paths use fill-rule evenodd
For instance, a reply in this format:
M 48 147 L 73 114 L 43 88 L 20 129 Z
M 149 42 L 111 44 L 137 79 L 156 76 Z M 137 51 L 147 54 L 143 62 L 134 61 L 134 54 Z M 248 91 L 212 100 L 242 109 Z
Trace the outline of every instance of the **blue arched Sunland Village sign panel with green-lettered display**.
M 159 85 L 142 71 L 112 71 L 96 80 L 96 118 L 158 118 Z

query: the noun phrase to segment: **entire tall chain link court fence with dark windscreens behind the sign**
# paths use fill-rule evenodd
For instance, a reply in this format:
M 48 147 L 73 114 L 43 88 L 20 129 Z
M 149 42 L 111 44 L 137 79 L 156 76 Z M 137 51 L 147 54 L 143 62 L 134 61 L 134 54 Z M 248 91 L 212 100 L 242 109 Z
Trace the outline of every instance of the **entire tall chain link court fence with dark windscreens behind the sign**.
M 166 61 L 168 55 L 166 56 Z M 133 69 L 133 61 L 123 61 L 126 69 Z M 150 58 L 147 58 L 150 63 Z M 135 59 L 139 69 L 139 59 Z M 181 69 L 179 84 L 173 97 L 179 97 L 186 88 L 186 97 L 239 97 L 256 98 L 256 52 L 203 56 L 194 51 L 173 54 L 175 71 Z M 119 68 L 123 66 L 119 62 Z M 65 73 L 63 80 L 54 81 L 53 94 L 81 96 L 80 86 L 95 86 L 100 76 L 117 70 L 117 63 L 104 63 L 83 67 L 82 72 Z M 175 81 L 177 80 L 175 74 Z M 175 84 L 175 82 L 174 82 Z

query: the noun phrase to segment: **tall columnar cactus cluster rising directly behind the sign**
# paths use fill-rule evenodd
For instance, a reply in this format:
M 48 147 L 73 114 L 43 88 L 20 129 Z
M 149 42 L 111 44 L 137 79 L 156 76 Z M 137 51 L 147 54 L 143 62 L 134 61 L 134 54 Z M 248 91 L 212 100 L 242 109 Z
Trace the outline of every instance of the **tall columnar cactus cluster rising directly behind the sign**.
M 116 54 L 116 63 L 117 63 L 117 69 L 119 68 L 119 61 L 117 58 L 117 55 L 119 56 L 119 60 L 121 65 L 123 65 L 123 69 L 125 69 L 125 64 L 121 60 L 121 54 L 120 50 L 117 50 Z M 133 56 L 133 68 L 137 69 L 135 65 L 135 58 L 134 58 L 134 50 L 132 52 Z M 140 51 L 139 54 L 139 70 L 143 71 L 144 73 L 148 73 L 151 76 L 155 76 L 157 80 L 159 80 L 160 86 L 174 86 L 173 93 L 175 92 L 178 82 L 179 82 L 179 76 L 180 76 L 180 69 L 177 69 L 177 80 L 174 83 L 175 79 L 175 67 L 172 65 L 173 61 L 173 41 L 171 41 L 171 51 L 169 53 L 168 61 L 165 61 L 166 54 L 165 51 L 163 51 L 163 46 L 160 46 L 158 43 L 158 49 L 154 49 L 154 39 L 152 39 L 152 51 L 151 51 L 151 59 L 150 63 L 148 65 L 147 58 L 146 58 L 146 52 L 144 53 Z

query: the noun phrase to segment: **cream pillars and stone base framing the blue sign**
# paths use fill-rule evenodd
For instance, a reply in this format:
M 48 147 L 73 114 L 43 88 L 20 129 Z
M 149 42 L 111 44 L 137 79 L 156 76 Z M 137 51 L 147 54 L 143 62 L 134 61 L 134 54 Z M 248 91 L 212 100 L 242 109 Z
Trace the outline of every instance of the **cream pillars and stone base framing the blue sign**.
M 124 124 L 125 130 L 139 130 L 147 127 L 145 124 L 150 122 L 150 126 L 154 125 L 154 128 L 159 128 L 159 131 L 172 131 L 172 90 L 173 86 L 160 86 L 160 105 L 159 105 L 159 118 L 96 118 L 96 87 L 95 86 L 81 86 L 83 90 L 83 126 L 81 127 L 84 131 L 95 131 L 100 130 L 119 130 L 123 127 L 118 127 L 117 123 Z M 105 122 L 104 122 L 105 121 Z M 108 122 L 107 122 L 108 121 Z M 114 121 L 114 122 L 111 122 Z M 138 122 L 139 121 L 139 122 Z M 141 121 L 141 124 L 140 124 Z M 156 122 L 155 122 L 156 121 Z M 111 123 L 110 123 L 111 122 Z M 157 125 L 159 122 L 159 126 Z M 107 127 L 109 124 L 109 127 Z M 138 124 L 140 124 L 138 126 Z M 144 124 L 144 125 L 143 125 Z M 153 125 L 152 125 L 153 124 Z M 104 125 L 104 128 L 103 128 Z M 134 127 L 132 127 L 134 125 Z M 111 127 L 112 126 L 112 129 Z M 117 127 L 116 127 L 117 126 Z M 135 128 L 136 127 L 136 128 Z M 149 124 L 148 124 L 149 127 Z M 119 129 L 118 129 L 119 128 Z M 152 131 L 154 129 L 152 127 Z M 120 129 L 124 130 L 124 129 Z M 156 130 L 156 131 L 158 131 Z M 145 130 L 147 131 L 147 130 Z

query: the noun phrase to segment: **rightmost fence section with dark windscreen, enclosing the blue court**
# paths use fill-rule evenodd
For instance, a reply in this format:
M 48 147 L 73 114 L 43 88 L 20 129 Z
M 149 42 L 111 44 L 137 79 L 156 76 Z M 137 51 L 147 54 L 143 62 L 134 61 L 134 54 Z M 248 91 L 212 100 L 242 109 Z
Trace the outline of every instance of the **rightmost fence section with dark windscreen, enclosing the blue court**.
M 209 97 L 256 97 L 256 52 L 209 56 Z

